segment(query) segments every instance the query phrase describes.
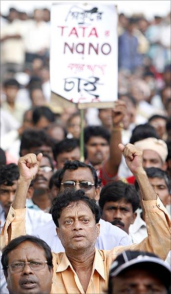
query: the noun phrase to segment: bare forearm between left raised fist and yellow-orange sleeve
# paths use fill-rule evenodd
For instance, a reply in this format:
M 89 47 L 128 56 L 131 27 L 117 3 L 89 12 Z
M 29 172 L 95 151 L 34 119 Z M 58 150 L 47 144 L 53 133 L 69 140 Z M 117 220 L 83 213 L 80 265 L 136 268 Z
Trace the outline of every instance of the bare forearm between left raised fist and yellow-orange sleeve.
M 31 180 L 25 180 L 21 177 L 19 178 L 16 195 L 12 203 L 12 207 L 14 209 L 25 208 L 26 196 L 27 196 L 27 191 L 28 191 L 30 182 Z

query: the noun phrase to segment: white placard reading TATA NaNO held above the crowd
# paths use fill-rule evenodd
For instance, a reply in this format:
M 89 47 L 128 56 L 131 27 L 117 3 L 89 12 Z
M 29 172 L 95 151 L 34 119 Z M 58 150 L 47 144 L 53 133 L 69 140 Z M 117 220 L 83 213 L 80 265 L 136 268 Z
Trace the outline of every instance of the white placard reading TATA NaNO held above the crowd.
M 113 4 L 52 5 L 50 83 L 52 92 L 74 103 L 117 99 L 117 12 Z

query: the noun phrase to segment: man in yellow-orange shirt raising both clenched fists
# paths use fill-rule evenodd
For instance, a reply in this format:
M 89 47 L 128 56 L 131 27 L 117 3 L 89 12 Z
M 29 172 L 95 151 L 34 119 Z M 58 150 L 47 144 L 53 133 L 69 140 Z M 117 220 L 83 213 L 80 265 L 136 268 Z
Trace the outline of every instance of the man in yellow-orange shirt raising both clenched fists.
M 132 144 L 126 146 L 119 144 L 119 148 L 143 195 L 148 237 L 139 244 L 119 246 L 109 251 L 95 249 L 94 244 L 100 232 L 96 217 L 98 206 L 80 190 L 64 190 L 60 197 L 64 199 L 66 196 L 67 203 L 65 200 L 64 203 L 61 201 L 57 210 L 59 200 L 56 198 L 52 213 L 65 253 L 53 253 L 54 274 L 51 294 L 105 293 L 110 265 L 124 250 L 148 251 L 162 259 L 165 259 L 169 253 L 170 218 L 142 167 L 142 152 Z M 37 173 L 41 159 L 42 154 L 37 157 L 28 154 L 19 159 L 20 179 L 16 197 L 2 229 L 2 246 L 18 235 L 25 234 L 26 192 L 31 179 Z M 78 196 L 78 194 L 82 195 Z M 94 203 L 93 209 L 88 201 Z

